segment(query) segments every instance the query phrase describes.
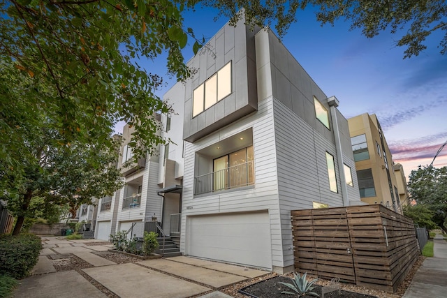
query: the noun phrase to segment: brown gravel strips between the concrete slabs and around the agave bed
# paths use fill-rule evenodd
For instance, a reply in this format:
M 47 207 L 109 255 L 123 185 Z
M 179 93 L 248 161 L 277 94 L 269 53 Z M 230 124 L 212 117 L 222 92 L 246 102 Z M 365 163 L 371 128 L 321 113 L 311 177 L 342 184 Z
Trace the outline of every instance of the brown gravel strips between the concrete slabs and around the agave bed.
M 98 244 L 94 244 L 94 242 L 92 242 L 89 245 L 98 245 Z M 129 255 L 124 255 L 122 253 L 114 253 L 114 252 L 110 252 L 110 251 L 97 252 L 95 254 L 101 256 L 102 258 L 110 260 L 112 262 L 115 262 L 117 264 L 133 263 L 133 262 L 141 261 L 139 258 L 133 258 Z M 416 274 L 416 271 L 418 270 L 420 265 L 422 265 L 423 260 L 425 260 L 425 257 L 423 257 L 423 256 L 420 256 L 418 258 L 418 260 L 416 260 L 416 262 L 413 265 L 413 268 L 409 272 L 408 276 L 406 276 L 405 280 L 402 282 L 400 287 L 397 288 L 397 292 L 395 292 L 394 294 L 390 294 L 388 292 L 383 292 L 381 290 L 374 290 L 372 288 L 365 288 L 365 287 L 361 287 L 361 286 L 353 285 L 353 284 L 349 284 L 349 283 L 341 283 L 340 288 L 341 288 L 341 290 L 344 290 L 344 291 L 356 292 L 356 293 L 360 293 L 363 295 L 375 296 L 375 297 L 379 297 L 379 298 L 401 298 L 404 295 L 406 288 L 408 288 L 409 284 L 411 283 L 411 280 L 413 279 L 414 274 Z M 93 278 L 91 278 L 90 276 L 85 274 L 85 272 L 82 271 L 82 269 L 91 268 L 93 266 L 89 265 L 89 263 L 85 262 L 84 260 L 81 260 L 80 258 L 76 257 L 75 255 L 71 255 L 70 258 L 52 260 L 52 262 L 53 262 L 54 268 L 56 268 L 57 271 L 67 271 L 67 270 L 78 271 L 82 276 L 84 276 L 88 281 L 90 281 L 91 284 L 93 284 L 96 288 L 101 290 L 101 292 L 103 292 L 107 297 L 119 298 L 113 292 L 110 292 L 107 288 L 103 287 L 103 285 L 96 282 Z M 227 295 L 230 295 L 231 297 L 247 298 L 246 295 L 242 295 L 242 294 L 238 293 L 237 290 L 245 288 L 249 285 L 253 285 L 254 283 L 258 283 L 259 281 L 265 281 L 265 280 L 275 277 L 275 276 L 279 276 L 279 275 L 276 273 L 269 273 L 269 274 L 266 274 L 265 276 L 251 278 L 247 281 L 243 281 L 241 283 L 236 283 L 234 285 L 229 285 L 228 287 L 221 288 L 219 290 L 221 292 L 226 293 Z M 286 274 L 285 276 L 290 277 L 290 276 L 293 276 L 293 274 Z M 312 280 L 312 279 L 316 278 L 316 276 L 309 275 L 308 278 L 310 280 Z M 328 285 L 329 283 L 330 283 L 330 281 L 320 279 L 320 280 L 318 280 L 318 282 L 316 284 L 324 286 L 324 285 Z M 343 297 L 353 297 L 353 298 L 367 297 L 367 296 L 346 296 L 348 294 L 349 293 L 345 293 L 345 296 L 343 296 Z M 264 297 L 272 298 L 274 296 L 264 296 Z M 284 295 L 278 296 L 278 297 L 284 297 Z M 332 296 L 332 297 L 334 297 L 334 296 Z

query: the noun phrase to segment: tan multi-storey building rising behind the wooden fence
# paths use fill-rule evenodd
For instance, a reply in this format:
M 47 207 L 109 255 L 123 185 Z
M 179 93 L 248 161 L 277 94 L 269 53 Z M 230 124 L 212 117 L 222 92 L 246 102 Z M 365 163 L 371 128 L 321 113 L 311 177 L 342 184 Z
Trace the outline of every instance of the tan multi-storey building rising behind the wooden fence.
M 365 113 L 348 122 L 361 200 L 402 214 L 393 156 L 376 115 Z

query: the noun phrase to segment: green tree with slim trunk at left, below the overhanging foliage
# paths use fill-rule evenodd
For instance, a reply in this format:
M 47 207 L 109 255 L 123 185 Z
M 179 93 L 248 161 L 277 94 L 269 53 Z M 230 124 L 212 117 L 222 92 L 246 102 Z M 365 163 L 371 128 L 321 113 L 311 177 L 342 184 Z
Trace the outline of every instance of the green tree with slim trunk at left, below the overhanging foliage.
M 91 198 L 112 195 L 122 186 L 116 166 L 119 142 L 111 141 L 116 147 L 110 151 L 78 142 L 61 147 L 58 139 L 57 131 L 35 130 L 24 142 L 27 154 L 20 152 L 22 171 L 0 167 L 0 196 L 17 217 L 14 235 L 20 233 L 25 218 L 42 212 L 50 215 L 66 204 L 75 214 L 80 204 L 91 204 Z

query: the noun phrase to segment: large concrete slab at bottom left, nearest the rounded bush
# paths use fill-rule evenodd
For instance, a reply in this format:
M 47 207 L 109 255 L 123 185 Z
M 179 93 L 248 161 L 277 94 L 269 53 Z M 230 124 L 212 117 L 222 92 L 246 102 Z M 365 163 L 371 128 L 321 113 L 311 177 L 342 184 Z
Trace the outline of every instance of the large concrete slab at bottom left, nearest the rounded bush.
M 20 281 L 13 295 L 15 298 L 107 297 L 76 271 L 30 276 Z

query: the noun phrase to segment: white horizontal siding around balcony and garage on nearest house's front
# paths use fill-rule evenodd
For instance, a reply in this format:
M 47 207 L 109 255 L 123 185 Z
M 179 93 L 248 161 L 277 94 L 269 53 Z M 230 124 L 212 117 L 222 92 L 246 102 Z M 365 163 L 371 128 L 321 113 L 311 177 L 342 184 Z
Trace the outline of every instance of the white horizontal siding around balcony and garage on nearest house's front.
M 184 186 L 182 198 L 182 239 L 180 250 L 185 252 L 186 216 L 219 214 L 243 211 L 268 210 L 272 239 L 272 265 L 282 267 L 281 222 L 279 218 L 276 153 L 272 100 L 258 105 L 258 111 L 222 128 L 194 143 L 187 143 L 185 150 Z M 194 198 L 195 152 L 226 137 L 253 128 L 255 186 L 243 190 L 210 193 Z

